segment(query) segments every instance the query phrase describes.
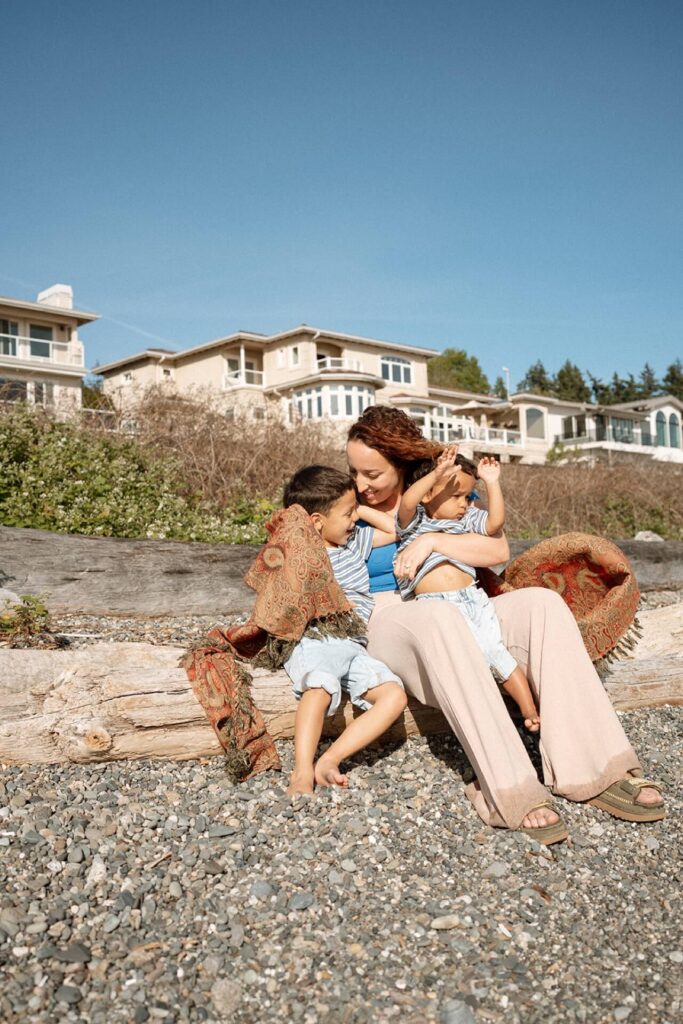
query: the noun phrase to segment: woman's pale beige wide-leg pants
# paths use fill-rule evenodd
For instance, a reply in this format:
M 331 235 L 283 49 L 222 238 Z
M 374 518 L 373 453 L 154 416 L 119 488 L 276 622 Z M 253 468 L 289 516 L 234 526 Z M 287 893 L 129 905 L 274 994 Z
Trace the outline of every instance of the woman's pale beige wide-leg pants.
M 374 597 L 369 652 L 396 673 L 409 693 L 443 712 L 474 769 L 477 780 L 466 793 L 481 819 L 519 827 L 550 797 L 458 608 L 449 601 L 401 602 L 395 593 Z M 503 641 L 539 705 L 546 785 L 569 800 L 588 800 L 627 773 L 639 773 L 562 598 L 528 588 L 494 604 Z

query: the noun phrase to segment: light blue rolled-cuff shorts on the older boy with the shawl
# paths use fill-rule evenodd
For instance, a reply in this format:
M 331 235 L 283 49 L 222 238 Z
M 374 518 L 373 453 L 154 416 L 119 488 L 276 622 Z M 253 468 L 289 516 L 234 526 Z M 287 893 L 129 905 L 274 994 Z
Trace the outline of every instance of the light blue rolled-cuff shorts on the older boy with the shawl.
M 342 690 L 348 693 L 351 703 L 362 711 L 372 705 L 364 700 L 364 693 L 383 683 L 403 684 L 384 662 L 371 657 L 357 640 L 339 637 L 302 637 L 285 663 L 285 671 L 292 680 L 297 700 L 306 690 L 327 690 L 332 700 L 326 717 L 334 715 L 341 701 Z

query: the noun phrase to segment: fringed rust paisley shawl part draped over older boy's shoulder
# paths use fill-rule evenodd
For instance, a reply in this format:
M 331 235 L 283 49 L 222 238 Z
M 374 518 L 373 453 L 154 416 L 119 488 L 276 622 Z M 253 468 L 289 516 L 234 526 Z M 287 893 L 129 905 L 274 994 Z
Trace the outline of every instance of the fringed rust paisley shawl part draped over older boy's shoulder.
M 300 640 L 313 621 L 329 622 L 342 632 L 351 622 L 351 605 L 304 510 L 293 505 L 275 512 L 265 528 L 268 540 L 245 575 L 256 592 L 249 621 L 212 630 L 180 663 L 234 779 L 281 768 L 263 716 L 252 699 L 251 677 L 243 660 L 255 658 L 273 639 Z

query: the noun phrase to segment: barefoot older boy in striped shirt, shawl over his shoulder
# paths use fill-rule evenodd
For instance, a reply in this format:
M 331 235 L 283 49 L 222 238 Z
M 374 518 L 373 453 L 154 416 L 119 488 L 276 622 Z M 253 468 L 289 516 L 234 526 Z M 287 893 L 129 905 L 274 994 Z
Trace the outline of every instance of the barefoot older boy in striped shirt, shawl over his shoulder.
M 373 599 L 366 559 L 373 547 L 393 542 L 393 535 L 355 528 L 353 481 L 330 466 L 306 466 L 296 472 L 285 487 L 283 504 L 285 508 L 300 505 L 308 513 L 325 542 L 337 582 L 367 623 Z M 312 793 L 314 785 L 347 785 L 339 771 L 341 762 L 381 736 L 404 710 L 408 698 L 402 683 L 386 665 L 368 654 L 366 644 L 362 634 L 341 639 L 303 636 L 285 663 L 299 701 L 290 796 Z M 366 714 L 355 718 L 313 763 L 324 720 L 337 711 L 342 689 Z

